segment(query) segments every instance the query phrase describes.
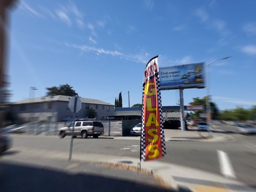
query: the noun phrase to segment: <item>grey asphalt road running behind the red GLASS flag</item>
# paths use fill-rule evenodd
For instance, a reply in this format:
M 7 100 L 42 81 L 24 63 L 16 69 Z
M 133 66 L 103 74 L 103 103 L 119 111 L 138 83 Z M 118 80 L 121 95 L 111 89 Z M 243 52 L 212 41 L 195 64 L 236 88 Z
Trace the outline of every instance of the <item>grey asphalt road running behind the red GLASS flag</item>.
M 218 129 L 217 129 L 218 128 Z M 227 154 L 237 180 L 256 187 L 256 135 L 240 135 L 230 131 L 235 128 L 218 125 L 215 130 L 224 130 L 223 134 L 232 136 L 232 141 L 223 142 L 166 142 L 167 156 L 163 162 L 197 168 L 221 175 L 218 150 Z M 216 131 L 218 132 L 218 131 Z M 13 136 L 14 147 L 31 147 L 68 151 L 70 137 L 59 139 L 46 136 Z M 73 153 L 92 153 L 113 156 L 139 158 L 138 140 L 119 139 L 74 139 Z

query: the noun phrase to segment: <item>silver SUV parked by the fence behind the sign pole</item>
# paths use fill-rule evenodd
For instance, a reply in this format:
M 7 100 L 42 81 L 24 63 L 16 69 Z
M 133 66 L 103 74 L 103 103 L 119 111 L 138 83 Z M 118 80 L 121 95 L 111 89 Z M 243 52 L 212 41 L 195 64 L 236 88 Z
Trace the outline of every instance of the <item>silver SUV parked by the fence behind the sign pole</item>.
M 77 120 L 74 122 L 73 136 L 82 136 L 87 138 L 93 136 L 98 138 L 99 135 L 104 134 L 104 126 L 101 122 L 96 120 Z M 68 127 L 62 127 L 59 129 L 59 137 L 64 138 L 66 135 L 72 135 L 73 123 L 70 123 Z

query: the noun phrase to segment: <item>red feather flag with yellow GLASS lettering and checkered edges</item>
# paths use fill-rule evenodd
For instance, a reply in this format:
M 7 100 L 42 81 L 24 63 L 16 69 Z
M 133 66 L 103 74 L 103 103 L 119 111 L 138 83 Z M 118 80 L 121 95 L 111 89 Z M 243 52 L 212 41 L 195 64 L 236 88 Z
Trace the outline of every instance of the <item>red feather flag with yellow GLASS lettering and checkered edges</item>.
M 156 56 L 146 64 L 143 78 L 140 159 L 144 161 L 158 159 L 166 154 L 159 86 Z

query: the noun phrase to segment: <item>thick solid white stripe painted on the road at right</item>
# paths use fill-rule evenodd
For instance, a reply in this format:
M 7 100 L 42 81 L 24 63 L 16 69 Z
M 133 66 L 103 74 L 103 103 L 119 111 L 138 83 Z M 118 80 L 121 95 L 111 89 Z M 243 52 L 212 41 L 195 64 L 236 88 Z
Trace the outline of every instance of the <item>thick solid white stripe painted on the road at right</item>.
M 235 172 L 228 154 L 221 150 L 217 150 L 217 152 L 219 157 L 219 167 L 221 174 L 224 175 L 226 178 L 236 179 Z

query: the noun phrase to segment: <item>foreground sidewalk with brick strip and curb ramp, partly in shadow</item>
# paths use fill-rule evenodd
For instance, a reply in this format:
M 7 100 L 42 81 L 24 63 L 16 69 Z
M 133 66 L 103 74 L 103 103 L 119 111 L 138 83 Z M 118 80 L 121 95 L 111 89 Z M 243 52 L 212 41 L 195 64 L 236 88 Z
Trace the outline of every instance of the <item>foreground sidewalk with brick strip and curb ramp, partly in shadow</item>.
M 14 154 L 3 156 L 0 162 L 4 165 L 4 172 L 8 172 L 7 176 L 14 183 L 7 181 L 9 184 L 4 185 L 6 188 L 0 187 L 0 191 L 6 191 L 5 189 L 13 187 L 13 184 L 16 184 L 14 189 L 17 189 L 15 187 L 21 187 L 23 183 L 24 186 L 28 186 L 25 188 L 28 192 L 32 192 L 33 190 L 30 189 L 35 189 L 36 185 L 41 189 L 40 187 L 43 187 L 45 183 L 48 183 L 49 188 L 44 186 L 42 191 L 53 191 L 55 188 L 59 190 L 59 185 L 61 191 L 68 191 L 67 189 L 81 191 L 83 188 L 96 192 L 103 190 L 106 192 L 146 192 L 150 190 L 171 192 L 189 191 L 188 189 L 193 192 L 255 191 L 237 180 L 160 161 L 141 162 L 142 170 L 138 174 L 136 168 L 139 160 L 132 157 L 75 153 L 73 160 L 68 162 L 68 154 L 63 151 L 38 151 L 24 147 L 15 147 L 12 151 Z M 19 159 L 19 161 L 15 162 L 13 159 Z M 15 177 L 12 178 L 13 176 Z M 33 182 L 26 179 L 27 177 Z M 67 187 L 64 187 L 66 184 Z

